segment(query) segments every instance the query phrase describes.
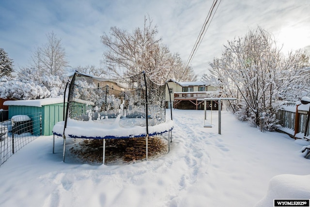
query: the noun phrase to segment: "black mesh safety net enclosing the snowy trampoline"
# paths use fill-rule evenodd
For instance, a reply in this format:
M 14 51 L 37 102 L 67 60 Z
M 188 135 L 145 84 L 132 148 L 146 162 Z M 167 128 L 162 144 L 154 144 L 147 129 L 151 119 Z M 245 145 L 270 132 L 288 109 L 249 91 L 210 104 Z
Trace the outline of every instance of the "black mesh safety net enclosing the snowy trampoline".
M 155 126 L 166 121 L 165 86 L 155 84 L 144 73 L 103 79 L 76 72 L 69 87 L 66 117 L 103 124 L 118 118 L 120 127 Z

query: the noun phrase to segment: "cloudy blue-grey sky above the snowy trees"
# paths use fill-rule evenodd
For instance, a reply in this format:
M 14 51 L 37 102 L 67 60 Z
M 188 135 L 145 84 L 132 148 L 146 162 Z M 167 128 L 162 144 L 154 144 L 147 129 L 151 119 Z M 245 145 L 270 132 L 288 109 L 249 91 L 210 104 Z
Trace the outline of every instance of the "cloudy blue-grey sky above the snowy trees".
M 218 0 L 219 2 L 219 0 Z M 283 52 L 310 48 L 310 0 L 221 0 L 191 66 L 201 77 L 223 45 L 261 26 L 283 44 Z M 62 39 L 72 67 L 100 66 L 100 36 L 110 27 L 132 32 L 150 16 L 172 53 L 187 61 L 213 0 L 0 0 L 0 48 L 15 69 L 29 64 L 31 51 Z

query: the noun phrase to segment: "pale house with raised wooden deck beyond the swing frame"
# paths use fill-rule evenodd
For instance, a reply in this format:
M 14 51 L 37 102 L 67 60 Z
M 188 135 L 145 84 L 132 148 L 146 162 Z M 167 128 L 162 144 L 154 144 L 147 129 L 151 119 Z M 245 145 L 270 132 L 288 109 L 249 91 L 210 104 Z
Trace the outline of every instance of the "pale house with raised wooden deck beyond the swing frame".
M 166 103 L 174 109 L 196 109 L 203 110 L 203 98 L 218 96 L 217 88 L 203 81 L 177 82 L 175 80 L 168 81 L 166 87 Z M 171 94 L 171 102 L 170 96 Z M 207 101 L 207 110 L 218 110 L 218 104 L 215 101 Z

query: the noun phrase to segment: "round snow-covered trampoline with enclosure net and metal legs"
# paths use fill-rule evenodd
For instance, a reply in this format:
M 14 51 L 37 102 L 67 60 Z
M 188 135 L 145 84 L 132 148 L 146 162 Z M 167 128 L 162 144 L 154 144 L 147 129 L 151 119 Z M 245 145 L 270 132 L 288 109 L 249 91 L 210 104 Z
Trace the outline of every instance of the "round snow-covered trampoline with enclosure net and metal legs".
M 64 120 L 53 127 L 53 153 L 55 136 L 63 138 L 63 161 L 67 138 L 102 140 L 103 163 L 106 139 L 145 137 L 148 159 L 148 138 L 168 132 L 170 148 L 173 121 L 171 107 L 166 118 L 166 85 L 155 84 L 144 72 L 122 79 L 75 72 L 65 90 Z

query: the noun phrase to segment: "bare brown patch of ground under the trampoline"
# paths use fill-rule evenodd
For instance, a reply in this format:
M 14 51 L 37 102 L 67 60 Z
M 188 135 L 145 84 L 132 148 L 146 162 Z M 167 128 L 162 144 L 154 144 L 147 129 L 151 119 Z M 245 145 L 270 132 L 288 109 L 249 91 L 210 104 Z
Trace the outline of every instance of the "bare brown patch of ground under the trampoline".
M 102 163 L 103 140 L 83 140 L 70 152 L 82 162 Z M 148 159 L 156 159 L 168 153 L 168 141 L 159 137 L 148 139 Z M 107 139 L 106 140 L 106 164 L 125 164 L 139 162 L 146 158 L 146 139 Z

